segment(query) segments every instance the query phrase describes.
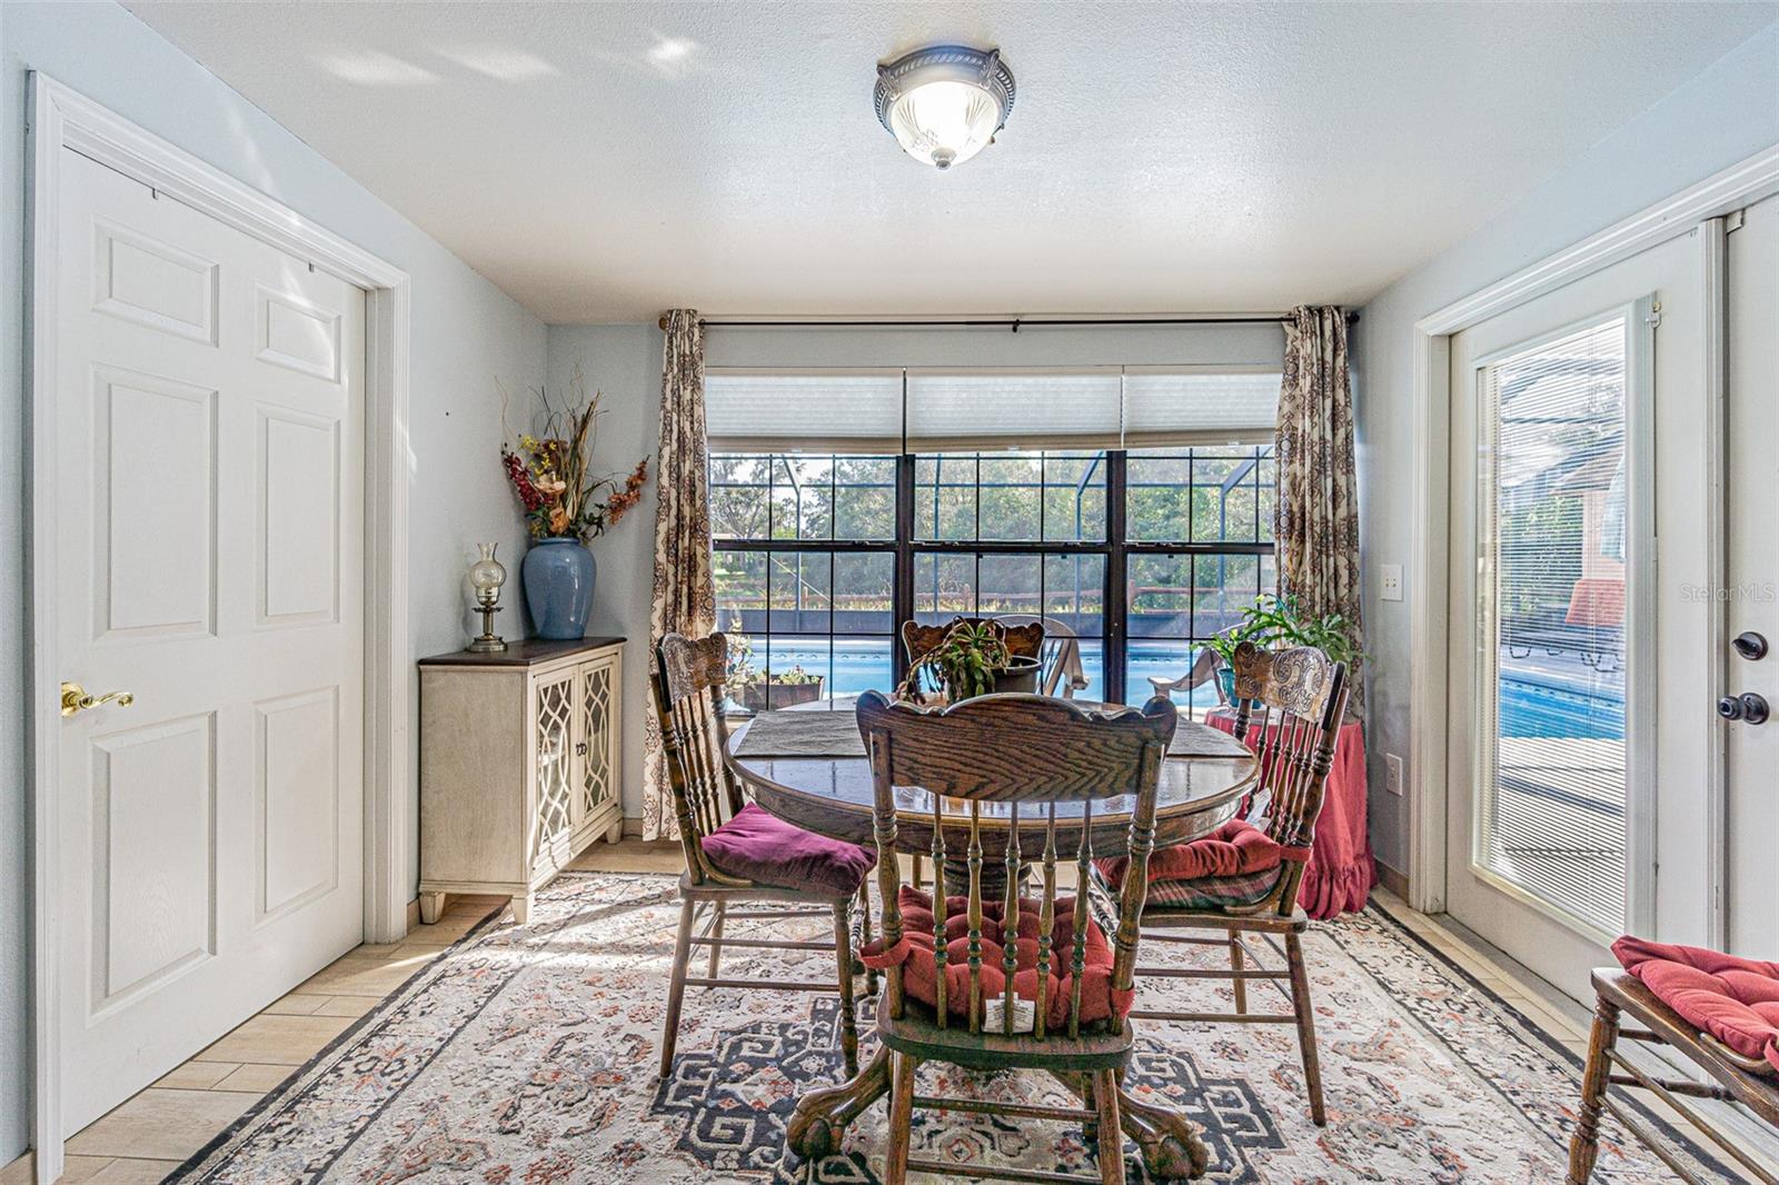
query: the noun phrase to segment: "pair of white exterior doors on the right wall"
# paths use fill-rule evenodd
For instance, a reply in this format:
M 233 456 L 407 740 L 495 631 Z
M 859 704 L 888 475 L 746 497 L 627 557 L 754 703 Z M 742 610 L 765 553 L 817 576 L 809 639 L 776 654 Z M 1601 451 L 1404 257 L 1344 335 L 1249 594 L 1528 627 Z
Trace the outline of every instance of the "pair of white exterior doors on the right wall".
M 1720 715 L 1779 692 L 1774 206 L 1452 338 L 1446 900 L 1576 998 L 1626 931 L 1779 957 L 1779 726 Z

